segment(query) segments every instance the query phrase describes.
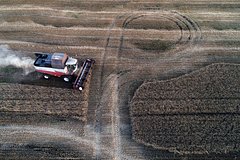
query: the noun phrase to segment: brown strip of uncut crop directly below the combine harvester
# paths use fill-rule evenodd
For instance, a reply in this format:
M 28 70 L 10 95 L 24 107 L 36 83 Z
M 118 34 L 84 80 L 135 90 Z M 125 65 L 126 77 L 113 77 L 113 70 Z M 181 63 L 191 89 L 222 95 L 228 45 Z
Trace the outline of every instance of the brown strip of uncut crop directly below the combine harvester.
M 72 89 L 2 84 L 0 92 L 0 111 L 42 113 L 78 119 L 87 115 L 87 95 Z

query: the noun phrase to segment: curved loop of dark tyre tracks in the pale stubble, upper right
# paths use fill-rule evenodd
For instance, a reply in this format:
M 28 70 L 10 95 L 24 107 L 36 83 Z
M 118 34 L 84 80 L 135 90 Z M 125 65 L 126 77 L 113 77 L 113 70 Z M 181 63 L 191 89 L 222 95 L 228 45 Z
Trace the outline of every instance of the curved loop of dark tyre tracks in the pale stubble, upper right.
M 199 41 L 202 39 L 202 33 L 201 28 L 198 25 L 197 22 L 195 22 L 190 17 L 187 17 L 183 14 L 180 14 L 177 11 L 159 11 L 159 12 L 151 12 L 151 13 L 132 13 L 130 14 L 125 21 L 122 24 L 122 33 L 121 33 L 121 40 L 120 40 L 120 46 L 119 50 L 120 52 L 125 49 L 123 46 L 124 41 L 124 30 L 127 29 L 128 25 L 133 22 L 134 20 L 139 19 L 166 19 L 167 21 L 175 23 L 175 25 L 178 27 L 180 31 L 180 35 L 178 39 L 173 44 L 173 49 L 170 49 L 170 51 L 166 51 L 166 54 L 174 54 L 181 51 L 186 50 L 189 46 L 195 45 L 199 43 Z M 132 50 L 135 50 L 135 48 L 131 48 Z M 151 51 L 151 50 L 148 50 Z M 147 51 L 147 52 L 148 52 Z M 169 53 L 168 53 L 169 52 Z

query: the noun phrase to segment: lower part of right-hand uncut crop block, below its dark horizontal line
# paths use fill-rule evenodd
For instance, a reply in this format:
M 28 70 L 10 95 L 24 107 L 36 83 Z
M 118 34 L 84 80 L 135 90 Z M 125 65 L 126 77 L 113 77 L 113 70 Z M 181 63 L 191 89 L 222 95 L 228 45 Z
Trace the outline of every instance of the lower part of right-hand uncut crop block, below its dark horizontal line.
M 239 149 L 239 115 L 134 117 L 134 139 L 181 153 L 225 153 Z

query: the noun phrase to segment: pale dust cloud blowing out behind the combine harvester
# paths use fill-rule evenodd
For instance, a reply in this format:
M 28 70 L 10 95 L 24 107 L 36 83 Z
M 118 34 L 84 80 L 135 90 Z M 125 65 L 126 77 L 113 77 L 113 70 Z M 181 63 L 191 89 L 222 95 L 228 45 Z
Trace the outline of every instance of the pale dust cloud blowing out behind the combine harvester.
M 21 52 L 11 50 L 8 45 L 0 45 L 0 68 L 14 66 L 22 68 L 25 74 L 34 71 L 34 60 L 31 57 L 23 56 Z

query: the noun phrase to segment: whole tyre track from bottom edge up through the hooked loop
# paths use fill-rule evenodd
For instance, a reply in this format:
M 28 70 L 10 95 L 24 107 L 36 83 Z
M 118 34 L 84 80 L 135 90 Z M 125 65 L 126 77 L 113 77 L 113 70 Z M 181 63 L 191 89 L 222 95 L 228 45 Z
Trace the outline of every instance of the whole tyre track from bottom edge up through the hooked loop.
M 118 15 L 115 19 L 113 19 L 111 25 L 109 26 L 107 33 L 106 33 L 106 42 L 104 45 L 104 51 L 101 54 L 101 62 L 99 64 L 99 72 L 100 72 L 100 80 L 99 80 L 99 94 L 98 94 L 98 104 L 96 105 L 96 119 L 95 119 L 95 129 L 94 131 L 97 133 L 95 136 L 95 157 L 96 159 L 104 158 L 104 153 L 106 153 L 105 148 L 111 148 L 113 152 L 111 153 L 112 158 L 114 159 L 121 159 L 123 156 L 122 147 L 126 147 L 122 144 L 121 139 L 121 117 L 122 112 L 119 112 L 121 108 L 119 108 L 119 88 L 118 88 L 118 75 L 115 73 L 118 68 L 118 63 L 121 58 L 121 53 L 126 49 L 124 47 L 124 31 L 127 29 L 127 26 L 133 22 L 134 20 L 147 17 L 147 16 L 160 16 L 161 18 L 168 19 L 174 22 L 180 31 L 180 37 L 176 41 L 175 45 L 183 45 L 179 48 L 181 49 L 174 49 L 172 52 L 180 52 L 180 50 L 186 49 L 187 45 L 197 42 L 201 39 L 201 32 L 200 28 L 196 25 L 194 21 L 183 16 L 177 12 L 167 12 L 170 15 L 159 14 L 159 13 L 124 13 Z M 114 48 L 111 44 L 111 31 L 116 27 L 116 24 L 121 23 L 121 28 L 119 32 L 119 46 Z M 187 32 L 187 33 L 186 33 Z M 199 33 L 200 32 L 200 33 Z M 116 35 L 115 35 L 116 36 Z M 135 48 L 130 48 L 135 50 Z M 109 55 L 111 55 L 109 57 Z M 109 58 L 115 58 L 116 61 L 111 61 L 110 63 Z M 109 73 L 105 72 L 108 67 L 111 66 L 111 71 Z M 106 92 L 106 90 L 109 92 Z M 106 99 L 106 97 L 109 97 Z M 110 98 L 111 97 L 111 98 Z M 106 113 L 110 112 L 110 113 Z M 106 119 L 110 120 L 110 122 L 106 122 Z M 108 127 L 110 125 L 110 128 Z M 127 125 L 127 124 L 124 124 Z M 130 124 L 129 124 L 130 125 Z M 106 130 L 106 127 L 109 129 Z M 131 127 L 127 127 L 131 128 Z M 109 131 L 110 130 L 110 131 Z M 131 132 L 131 131 L 130 131 Z M 108 143 L 106 143 L 106 137 L 108 137 Z M 127 139 L 130 140 L 131 139 Z M 105 141 L 105 142 L 104 142 Z M 138 148 L 138 149 L 141 149 Z M 134 152 L 139 152 L 137 151 Z M 109 156 L 109 155 L 108 155 Z M 128 159 L 132 159 L 128 157 Z

